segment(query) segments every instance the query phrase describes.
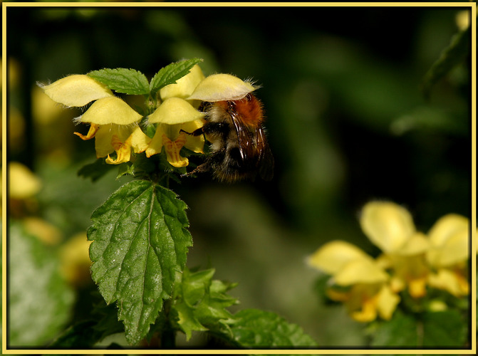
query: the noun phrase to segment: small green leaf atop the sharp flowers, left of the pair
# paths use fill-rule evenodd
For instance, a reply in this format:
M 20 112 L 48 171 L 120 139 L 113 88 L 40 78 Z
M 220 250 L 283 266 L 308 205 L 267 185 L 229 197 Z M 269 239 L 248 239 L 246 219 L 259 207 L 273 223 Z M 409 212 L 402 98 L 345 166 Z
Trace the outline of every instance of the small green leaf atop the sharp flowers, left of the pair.
M 118 93 L 130 95 L 147 95 L 150 93 L 149 84 L 144 74 L 135 69 L 116 68 L 93 70 L 88 76 L 108 85 L 108 88 Z

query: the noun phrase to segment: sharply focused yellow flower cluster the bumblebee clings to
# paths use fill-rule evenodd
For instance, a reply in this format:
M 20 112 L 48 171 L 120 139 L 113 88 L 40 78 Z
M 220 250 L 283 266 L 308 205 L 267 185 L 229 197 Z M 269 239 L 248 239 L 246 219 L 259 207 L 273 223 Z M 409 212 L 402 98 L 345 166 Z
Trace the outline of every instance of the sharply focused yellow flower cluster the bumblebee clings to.
M 204 137 L 186 133 L 204 125 L 204 112 L 197 110 L 199 100 L 214 101 L 211 99 L 217 95 L 222 100 L 232 100 L 255 89 L 233 75 L 216 74 L 204 78 L 201 68 L 196 65 L 175 84 L 160 89 L 160 105 L 147 117 L 148 124 L 156 125 L 155 135 L 151 138 L 139 125 L 142 115 L 116 97 L 106 85 L 88 75 L 68 75 L 41 88 L 53 101 L 68 107 L 83 107 L 94 101 L 76 119 L 90 124 L 88 133 L 74 133 L 83 140 L 95 137 L 97 158 L 107 157 L 106 163 L 120 164 L 130 161 L 131 150 L 145 152 L 151 157 L 165 147 L 167 161 L 174 167 L 189 164 L 188 159 L 180 155 L 182 147 L 203 152 Z M 115 158 L 110 157 L 113 152 L 116 152 Z

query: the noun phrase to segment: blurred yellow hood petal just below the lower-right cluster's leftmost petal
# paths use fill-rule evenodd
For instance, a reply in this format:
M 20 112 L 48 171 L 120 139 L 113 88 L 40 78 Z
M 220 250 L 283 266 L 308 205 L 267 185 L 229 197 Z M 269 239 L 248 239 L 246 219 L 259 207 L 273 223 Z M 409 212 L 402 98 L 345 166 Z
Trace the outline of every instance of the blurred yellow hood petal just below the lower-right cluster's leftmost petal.
M 339 286 L 356 283 L 380 283 L 388 279 L 388 274 L 379 268 L 375 261 L 368 259 L 353 260 L 345 264 L 334 279 Z

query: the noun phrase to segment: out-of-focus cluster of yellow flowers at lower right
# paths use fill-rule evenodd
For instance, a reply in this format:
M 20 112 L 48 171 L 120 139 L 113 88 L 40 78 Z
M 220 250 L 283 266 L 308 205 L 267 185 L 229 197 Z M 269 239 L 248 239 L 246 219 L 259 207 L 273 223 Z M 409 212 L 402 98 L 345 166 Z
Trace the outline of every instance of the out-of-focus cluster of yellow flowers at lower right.
M 360 322 L 377 316 L 389 320 L 406 290 L 422 298 L 428 288 L 467 295 L 469 221 L 447 214 L 428 234 L 417 231 L 407 209 L 388 201 L 371 201 L 360 214 L 360 226 L 383 252 L 372 258 L 345 241 L 331 241 L 308 257 L 313 266 L 331 275 L 327 295 L 341 301 Z

